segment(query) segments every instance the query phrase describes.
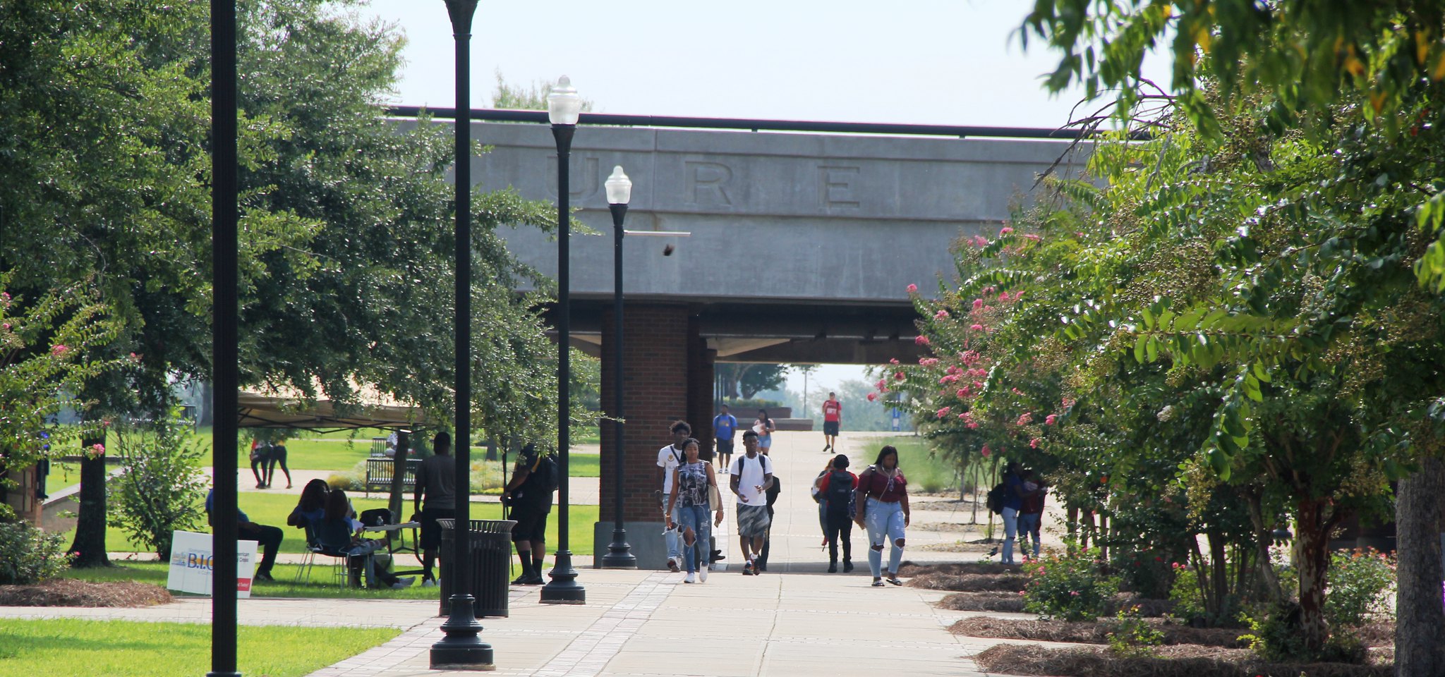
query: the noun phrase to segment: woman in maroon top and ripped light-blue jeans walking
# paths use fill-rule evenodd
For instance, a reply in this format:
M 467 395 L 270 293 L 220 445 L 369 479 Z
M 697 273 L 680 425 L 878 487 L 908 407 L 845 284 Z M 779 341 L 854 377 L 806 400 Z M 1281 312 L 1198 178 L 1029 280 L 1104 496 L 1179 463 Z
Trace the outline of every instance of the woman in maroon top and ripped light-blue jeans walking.
M 879 458 L 858 475 L 858 507 L 854 521 L 868 530 L 868 569 L 873 570 L 873 588 L 883 588 L 883 543 L 892 540 L 889 554 L 889 577 L 899 580 L 899 563 L 903 562 L 903 530 L 909 523 L 907 478 L 899 468 L 899 450 L 892 445 L 879 450 Z

